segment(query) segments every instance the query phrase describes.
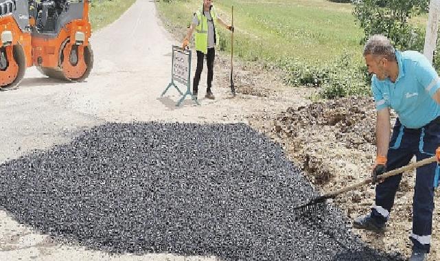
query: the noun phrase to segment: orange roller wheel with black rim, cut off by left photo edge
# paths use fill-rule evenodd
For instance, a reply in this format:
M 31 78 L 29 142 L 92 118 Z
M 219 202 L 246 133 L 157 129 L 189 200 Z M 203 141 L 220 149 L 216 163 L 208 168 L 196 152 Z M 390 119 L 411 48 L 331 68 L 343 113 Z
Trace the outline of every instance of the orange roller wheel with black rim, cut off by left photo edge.
M 0 47 L 0 89 L 16 87 L 26 71 L 25 52 L 21 45 Z

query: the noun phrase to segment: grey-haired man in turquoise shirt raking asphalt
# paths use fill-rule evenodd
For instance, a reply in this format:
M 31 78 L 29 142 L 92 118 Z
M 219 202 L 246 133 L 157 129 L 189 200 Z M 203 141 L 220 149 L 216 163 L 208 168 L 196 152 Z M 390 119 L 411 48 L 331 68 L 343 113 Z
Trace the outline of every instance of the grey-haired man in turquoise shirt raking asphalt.
M 388 38 L 374 35 L 364 47 L 371 89 L 377 110 L 377 156 L 373 183 L 386 170 L 406 166 L 437 155 L 440 158 L 440 79 L 430 62 L 419 52 L 399 52 Z M 390 109 L 398 118 L 391 136 Z M 390 139 L 391 136 L 391 139 Z M 437 149 L 439 148 L 439 149 Z M 437 154 L 436 154 L 437 149 Z M 413 198 L 412 261 L 426 260 L 430 251 L 434 190 L 440 168 L 431 163 L 417 169 Z M 402 174 L 384 179 L 376 186 L 371 212 L 354 220 L 354 227 L 383 231 L 393 207 Z

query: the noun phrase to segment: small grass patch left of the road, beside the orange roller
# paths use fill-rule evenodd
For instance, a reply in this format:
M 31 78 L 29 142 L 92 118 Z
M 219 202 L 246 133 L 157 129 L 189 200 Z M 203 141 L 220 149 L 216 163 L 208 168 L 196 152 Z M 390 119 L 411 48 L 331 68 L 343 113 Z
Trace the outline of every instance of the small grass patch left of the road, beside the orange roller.
M 89 19 L 94 31 L 117 20 L 136 0 L 93 0 Z

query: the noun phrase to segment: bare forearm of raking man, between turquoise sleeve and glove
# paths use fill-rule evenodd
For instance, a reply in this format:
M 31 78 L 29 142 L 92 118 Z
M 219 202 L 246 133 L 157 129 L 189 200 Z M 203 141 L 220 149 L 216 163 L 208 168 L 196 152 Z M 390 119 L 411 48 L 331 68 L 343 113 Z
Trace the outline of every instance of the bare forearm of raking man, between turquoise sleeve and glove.
M 376 121 L 377 155 L 386 157 L 389 149 L 390 135 L 390 111 L 386 108 L 378 111 L 378 120 Z

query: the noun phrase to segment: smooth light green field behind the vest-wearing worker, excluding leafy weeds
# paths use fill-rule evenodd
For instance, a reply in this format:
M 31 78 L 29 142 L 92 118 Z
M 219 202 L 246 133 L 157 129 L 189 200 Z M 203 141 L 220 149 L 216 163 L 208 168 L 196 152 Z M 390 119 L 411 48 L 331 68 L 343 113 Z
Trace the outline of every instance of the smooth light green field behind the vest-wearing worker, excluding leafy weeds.
M 201 0 L 157 3 L 159 12 L 174 27 L 191 21 Z M 362 30 L 355 24 L 352 7 L 326 0 L 222 0 L 214 5 L 224 21 L 231 21 L 234 6 L 234 53 L 244 60 L 276 62 L 296 58 L 310 64 L 348 54 L 361 56 Z M 230 36 L 221 31 L 220 49 L 229 52 Z

